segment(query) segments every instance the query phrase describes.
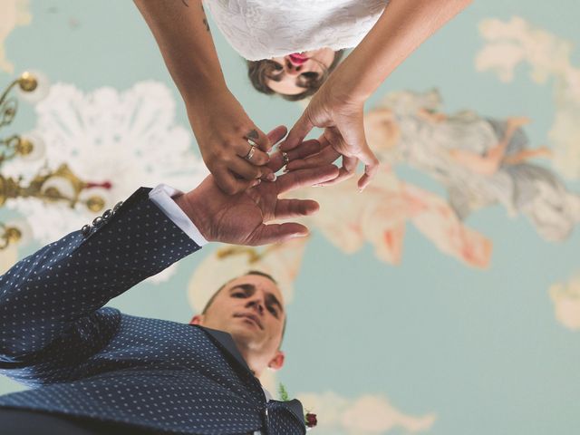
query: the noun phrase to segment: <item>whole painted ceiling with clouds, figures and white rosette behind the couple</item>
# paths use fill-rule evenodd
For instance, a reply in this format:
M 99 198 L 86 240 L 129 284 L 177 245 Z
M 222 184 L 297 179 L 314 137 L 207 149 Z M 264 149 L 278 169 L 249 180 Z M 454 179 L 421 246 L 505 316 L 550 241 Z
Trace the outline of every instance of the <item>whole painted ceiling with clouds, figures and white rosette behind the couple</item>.
M 74 81 L 64 73 L 65 58 L 38 61 L 38 47 L 22 54 L 28 38 L 42 37 L 44 27 L 36 26 L 47 16 L 63 17 L 66 25 L 59 32 L 68 38 L 74 34 L 90 43 L 99 37 L 103 50 L 116 50 L 114 36 L 92 34 L 90 25 L 98 19 L 93 14 L 109 17 L 111 5 L 80 3 L 0 0 L 0 86 L 30 67 L 43 78 L 35 98 L 18 97 L 30 119 L 14 126 L 24 125 L 27 135 L 43 143 L 43 152 L 3 162 L 2 176 L 26 183 L 46 168 L 66 164 L 91 184 L 82 195 L 98 194 L 104 208 L 139 186 L 162 182 L 184 191 L 196 186 L 208 170 L 178 94 L 131 4 L 119 6 L 120 17 L 110 23 L 134 24 L 131 29 L 141 38 L 127 38 L 119 49 L 132 47 L 134 64 L 117 65 L 123 77 L 118 82 L 94 85 L 94 77 L 110 66 L 95 66 L 90 53 L 83 58 L 90 81 Z M 580 425 L 580 377 L 572 363 L 580 357 L 580 32 L 576 24 L 566 24 L 561 35 L 557 17 L 546 12 L 539 19 L 529 2 L 514 3 L 521 6 L 520 14 L 507 18 L 502 2 L 475 5 L 463 27 L 452 27 L 436 40 L 455 42 L 469 73 L 412 81 L 404 77 L 411 76 L 410 63 L 380 88 L 364 122 L 382 168 L 364 192 L 358 192 L 354 178 L 303 189 L 299 198 L 313 198 L 321 206 L 303 220 L 309 237 L 268 247 L 204 247 L 187 263 L 151 277 L 140 288 L 158 294 L 173 288 L 180 297 L 173 310 L 153 315 L 187 321 L 175 313 L 198 313 L 228 279 L 261 270 L 276 277 L 293 322 L 301 323 L 312 315 L 312 294 L 322 292 L 309 284 L 324 281 L 331 290 L 315 318 L 328 330 L 312 331 L 322 343 L 299 350 L 311 331 L 308 324 L 294 335 L 290 329 L 286 339 L 293 351 L 298 349 L 292 359 L 312 362 L 312 371 L 304 372 L 301 365 L 293 372 L 288 362 L 288 368 L 263 379 L 270 391 L 284 382 L 318 415 L 311 433 L 575 433 Z M 565 7 L 570 15 L 580 14 L 574 2 Z M 466 29 L 477 43 L 458 42 Z M 67 43 L 65 36 L 59 43 Z M 217 44 L 220 56 L 233 56 L 225 43 Z M 413 62 L 430 67 L 423 51 Z M 158 63 L 159 69 L 147 68 Z M 257 118 L 271 127 L 293 123 L 298 104 L 251 94 L 240 79 L 243 65 L 228 68 L 234 88 L 249 95 Z M 525 92 L 547 97 L 532 108 L 521 97 L 507 115 L 500 103 L 482 110 L 480 100 L 450 91 L 477 81 L 495 86 L 498 95 L 513 92 L 515 100 Z M 58 179 L 53 187 L 67 189 Z M 74 207 L 32 198 L 6 201 L 0 220 L 14 222 L 25 237 L 0 250 L 2 271 L 90 222 L 94 213 L 80 199 Z M 344 265 L 354 266 L 346 270 Z M 140 314 L 138 293 L 127 305 L 131 314 Z M 397 306 L 411 306 L 409 294 L 426 306 L 414 316 L 398 317 L 402 308 Z M 367 313 L 360 311 L 361 300 Z M 384 306 L 374 306 L 375 300 Z M 434 326 L 449 319 L 458 323 L 449 329 Z M 357 344 L 367 343 L 376 351 L 372 355 L 381 357 L 366 363 L 366 356 L 348 346 L 359 348 L 337 338 L 334 330 L 353 330 L 363 337 Z M 527 346 L 533 340 L 536 344 Z M 325 343 L 343 344 L 345 349 L 337 351 L 341 357 L 318 352 Z M 527 369 L 517 372 L 512 361 Z M 333 382 L 324 382 L 326 375 Z M 0 380 L 0 393 L 18 388 Z M 548 391 L 545 401 L 542 391 Z M 518 402 L 522 411 L 507 415 Z

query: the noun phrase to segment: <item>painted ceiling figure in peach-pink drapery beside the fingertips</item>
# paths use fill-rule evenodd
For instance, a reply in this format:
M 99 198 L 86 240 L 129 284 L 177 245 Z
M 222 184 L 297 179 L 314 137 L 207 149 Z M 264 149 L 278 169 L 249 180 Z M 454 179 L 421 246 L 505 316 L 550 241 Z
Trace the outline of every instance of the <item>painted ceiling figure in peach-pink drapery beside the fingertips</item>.
M 385 168 L 363 195 L 357 191 L 354 179 L 304 190 L 304 198 L 313 198 L 321 206 L 320 212 L 304 218 L 304 223 L 321 231 L 345 253 L 371 243 L 375 255 L 391 265 L 401 263 L 406 227 L 411 224 L 440 252 L 468 266 L 488 266 L 491 241 L 465 226 L 444 198 L 402 182 Z M 344 198 L 348 198 L 347 204 Z

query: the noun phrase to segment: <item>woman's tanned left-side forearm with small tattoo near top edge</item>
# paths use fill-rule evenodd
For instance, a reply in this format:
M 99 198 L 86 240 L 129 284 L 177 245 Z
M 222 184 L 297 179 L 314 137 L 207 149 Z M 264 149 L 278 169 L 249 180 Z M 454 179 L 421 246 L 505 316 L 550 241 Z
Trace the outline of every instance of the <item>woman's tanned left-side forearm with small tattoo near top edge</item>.
M 134 0 L 189 109 L 226 89 L 218 53 L 200 0 Z

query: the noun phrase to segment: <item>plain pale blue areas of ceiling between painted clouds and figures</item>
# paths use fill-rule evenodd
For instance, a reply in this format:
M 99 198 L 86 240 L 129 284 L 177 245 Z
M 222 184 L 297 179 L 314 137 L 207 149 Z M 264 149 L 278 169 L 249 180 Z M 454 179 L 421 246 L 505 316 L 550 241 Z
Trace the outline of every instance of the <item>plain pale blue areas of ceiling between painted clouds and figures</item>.
M 87 92 L 102 86 L 122 91 L 151 79 L 174 90 L 131 2 L 33 1 L 30 11 L 32 23 L 17 27 L 5 41 L 16 72 L 34 67 L 52 82 Z M 578 2 L 478 2 L 414 53 L 372 102 L 385 92 L 437 87 L 445 111 L 467 108 L 499 119 L 527 115 L 533 120 L 530 141 L 548 143 L 555 112 L 552 82 L 532 82 L 528 67 L 520 66 L 513 82 L 502 83 L 474 66 L 483 46 L 478 23 L 513 15 L 574 43 L 580 37 Z M 291 125 L 301 106 L 253 92 L 242 60 L 215 26 L 213 34 L 230 89 L 250 117 L 265 131 Z M 578 65 L 580 48 L 572 53 Z M 12 76 L 0 71 L 0 85 Z M 177 91 L 174 98 L 177 123 L 188 128 Z M 34 111 L 24 108 L 14 128 L 34 123 Z M 415 169 L 397 171 L 407 182 L 444 194 Z M 568 186 L 580 191 L 575 180 Z M 525 218 L 507 218 L 499 207 L 479 211 L 468 224 L 493 241 L 487 270 L 444 256 L 412 226 L 400 266 L 380 262 L 368 245 L 343 254 L 314 231 L 288 310 L 288 359 L 279 379 L 295 392 L 335 391 L 351 400 L 378 393 L 406 414 L 435 412 L 427 430 L 433 435 L 578 433 L 580 332 L 556 321 L 548 295 L 550 285 L 580 269 L 577 228 L 563 243 L 546 242 Z M 191 271 L 215 248 L 184 260 L 165 285 L 140 285 L 113 304 L 130 314 L 186 321 Z M 0 392 L 14 388 L 0 378 Z

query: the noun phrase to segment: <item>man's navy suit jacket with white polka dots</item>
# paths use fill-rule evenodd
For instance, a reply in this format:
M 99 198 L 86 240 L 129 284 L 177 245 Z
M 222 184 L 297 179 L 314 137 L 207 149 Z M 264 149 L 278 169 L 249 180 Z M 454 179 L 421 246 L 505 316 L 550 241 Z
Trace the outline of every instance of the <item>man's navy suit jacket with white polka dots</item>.
M 304 434 L 300 402 L 266 402 L 229 334 L 102 308 L 199 249 L 149 190 L 0 277 L 0 372 L 31 387 L 0 407 L 169 433 Z

